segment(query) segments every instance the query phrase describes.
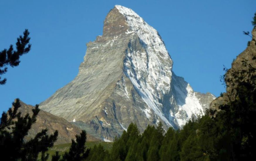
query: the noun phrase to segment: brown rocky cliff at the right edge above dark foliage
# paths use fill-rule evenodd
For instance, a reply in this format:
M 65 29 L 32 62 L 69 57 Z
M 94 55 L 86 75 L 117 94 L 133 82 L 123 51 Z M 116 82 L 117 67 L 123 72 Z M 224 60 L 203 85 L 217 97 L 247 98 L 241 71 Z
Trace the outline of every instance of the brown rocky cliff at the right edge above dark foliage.
M 252 40 L 248 43 L 247 48 L 239 54 L 236 59 L 233 61 L 231 68 L 226 72 L 226 78 L 233 79 L 233 75 L 235 72 L 243 71 L 243 73 L 248 72 L 248 66 L 246 64 L 250 64 L 253 68 L 256 68 L 256 26 L 252 30 Z M 245 80 L 248 77 L 244 78 Z M 223 93 L 222 97 L 218 97 L 210 104 L 210 109 L 216 110 L 217 112 L 220 110 L 219 106 L 226 104 L 227 102 L 235 99 L 235 93 L 232 90 L 235 90 L 237 84 L 230 85 L 227 84 L 226 93 Z

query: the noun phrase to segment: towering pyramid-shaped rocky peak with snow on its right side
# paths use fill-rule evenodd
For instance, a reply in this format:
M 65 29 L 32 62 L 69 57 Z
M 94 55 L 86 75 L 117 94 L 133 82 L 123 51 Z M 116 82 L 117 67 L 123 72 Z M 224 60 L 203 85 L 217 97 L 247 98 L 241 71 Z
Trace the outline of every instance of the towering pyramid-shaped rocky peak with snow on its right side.
M 178 129 L 204 115 L 215 99 L 194 92 L 172 71 L 173 61 L 159 33 L 134 11 L 116 5 L 103 35 L 87 44 L 79 73 L 40 108 L 72 121 L 105 141 L 131 122 L 140 131 L 161 121 Z

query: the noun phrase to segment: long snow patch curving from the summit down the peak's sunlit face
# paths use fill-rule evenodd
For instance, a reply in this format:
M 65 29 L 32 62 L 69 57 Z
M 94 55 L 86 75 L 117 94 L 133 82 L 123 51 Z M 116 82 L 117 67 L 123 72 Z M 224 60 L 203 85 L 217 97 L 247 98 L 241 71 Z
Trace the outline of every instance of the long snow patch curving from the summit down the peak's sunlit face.
M 140 38 L 145 52 L 130 49 L 124 62 L 124 73 L 132 81 L 135 89 L 144 102 L 165 123 L 172 126 L 159 107 L 159 99 L 169 92 L 172 76 L 172 60 L 165 48 L 158 32 L 148 25 L 140 16 L 129 8 L 116 5 L 121 14 L 126 17 L 130 31 Z M 167 61 L 163 64 L 162 61 Z M 143 109 L 146 116 L 150 117 L 150 110 Z

